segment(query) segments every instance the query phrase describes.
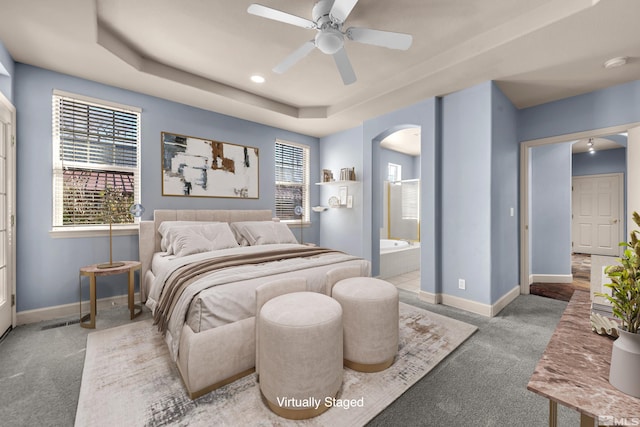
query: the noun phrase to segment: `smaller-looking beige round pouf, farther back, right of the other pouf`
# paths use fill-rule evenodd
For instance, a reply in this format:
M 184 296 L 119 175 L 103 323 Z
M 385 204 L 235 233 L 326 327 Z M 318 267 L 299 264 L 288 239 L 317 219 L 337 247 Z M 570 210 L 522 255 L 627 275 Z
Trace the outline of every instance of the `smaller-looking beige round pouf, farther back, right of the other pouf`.
M 333 298 L 342 306 L 344 364 L 362 372 L 378 372 L 393 364 L 398 352 L 398 289 L 371 277 L 336 283 Z

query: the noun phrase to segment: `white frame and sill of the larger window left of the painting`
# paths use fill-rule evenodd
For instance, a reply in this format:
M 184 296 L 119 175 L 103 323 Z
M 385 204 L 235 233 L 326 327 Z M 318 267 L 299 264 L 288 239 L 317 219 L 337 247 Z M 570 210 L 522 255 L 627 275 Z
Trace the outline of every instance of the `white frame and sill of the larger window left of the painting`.
M 98 165 L 92 167 L 88 162 L 70 162 L 61 159 L 62 140 L 60 132 L 60 101 L 62 99 L 70 99 L 74 102 L 87 105 L 94 105 L 99 108 L 109 109 L 112 111 L 122 111 L 134 114 L 137 118 L 137 135 L 136 135 L 136 153 L 135 167 L 117 166 L 117 165 Z M 63 195 L 64 195 L 64 168 L 65 167 L 81 167 L 84 170 L 108 171 L 108 172 L 128 172 L 133 174 L 133 203 L 140 203 L 141 200 L 141 133 L 142 133 L 142 109 L 132 107 L 120 103 L 106 101 L 97 98 L 91 98 L 84 95 L 78 95 L 55 89 L 52 97 L 52 215 L 51 230 L 52 237 L 93 237 L 109 234 L 109 224 L 82 224 L 82 225 L 63 225 Z M 113 224 L 113 235 L 132 235 L 136 234 L 139 227 L 140 218 L 133 218 L 133 222 L 127 224 Z

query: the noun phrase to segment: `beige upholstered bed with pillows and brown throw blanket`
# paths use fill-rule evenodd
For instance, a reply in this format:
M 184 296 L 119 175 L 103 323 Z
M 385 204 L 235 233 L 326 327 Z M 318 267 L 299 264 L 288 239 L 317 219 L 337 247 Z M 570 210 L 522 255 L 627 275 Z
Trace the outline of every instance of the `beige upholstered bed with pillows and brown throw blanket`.
M 156 210 L 139 245 L 142 299 L 191 398 L 253 371 L 256 287 L 301 277 L 325 292 L 336 267 L 370 274 L 367 260 L 297 244 L 270 210 Z

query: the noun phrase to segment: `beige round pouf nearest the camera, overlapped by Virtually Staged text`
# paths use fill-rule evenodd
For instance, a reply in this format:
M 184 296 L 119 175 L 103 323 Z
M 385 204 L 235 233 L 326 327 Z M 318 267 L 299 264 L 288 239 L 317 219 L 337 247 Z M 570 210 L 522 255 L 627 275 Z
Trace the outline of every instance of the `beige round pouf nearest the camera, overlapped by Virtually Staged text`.
M 269 408 L 296 420 L 326 411 L 342 384 L 340 304 L 294 292 L 267 301 L 258 322 L 260 391 Z

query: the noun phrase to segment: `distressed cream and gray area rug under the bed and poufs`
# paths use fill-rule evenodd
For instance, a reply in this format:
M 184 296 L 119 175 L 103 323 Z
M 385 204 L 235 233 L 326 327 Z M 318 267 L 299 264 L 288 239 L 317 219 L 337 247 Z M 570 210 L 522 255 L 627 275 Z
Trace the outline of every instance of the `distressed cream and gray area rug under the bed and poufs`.
M 255 374 L 189 399 L 151 320 L 92 332 L 87 338 L 75 425 L 360 426 L 431 371 L 476 329 L 400 303 L 400 345 L 393 365 L 369 374 L 345 368 L 338 404 L 303 421 L 272 413 L 262 400 Z

